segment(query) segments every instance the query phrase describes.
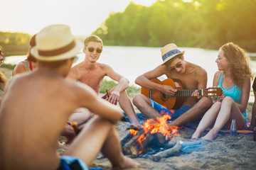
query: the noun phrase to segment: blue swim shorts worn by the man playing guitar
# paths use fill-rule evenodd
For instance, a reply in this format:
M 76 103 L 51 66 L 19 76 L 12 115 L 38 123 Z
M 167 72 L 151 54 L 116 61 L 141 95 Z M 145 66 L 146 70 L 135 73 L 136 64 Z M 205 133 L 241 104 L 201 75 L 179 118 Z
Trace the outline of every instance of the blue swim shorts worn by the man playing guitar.
M 191 106 L 181 106 L 181 108 L 178 108 L 176 110 L 169 110 L 168 108 L 162 106 L 161 104 L 156 103 L 156 101 L 151 100 L 151 98 L 149 99 L 151 101 L 152 108 L 156 109 L 156 111 L 158 111 L 161 115 L 170 115 L 171 120 L 175 120 L 180 115 L 182 115 L 183 113 L 185 113 L 186 111 L 192 108 Z M 194 121 L 193 123 L 188 123 L 186 125 L 197 126 L 200 123 L 200 120 L 201 118 L 198 118 L 198 120 Z

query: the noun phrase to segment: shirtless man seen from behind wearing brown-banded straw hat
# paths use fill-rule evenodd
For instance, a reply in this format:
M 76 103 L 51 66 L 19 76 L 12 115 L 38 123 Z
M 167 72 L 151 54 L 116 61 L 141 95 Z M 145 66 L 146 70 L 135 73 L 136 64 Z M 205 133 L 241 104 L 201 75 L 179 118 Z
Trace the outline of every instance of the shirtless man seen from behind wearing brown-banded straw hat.
M 48 26 L 36 35 L 31 53 L 38 60 L 38 69 L 11 79 L 4 93 L 0 169 L 87 169 L 100 151 L 113 169 L 138 166 L 124 157 L 114 130 L 122 113 L 98 98 L 89 86 L 65 79 L 81 47 L 65 25 Z M 65 156 L 59 157 L 58 136 L 78 107 L 97 116 L 82 129 Z

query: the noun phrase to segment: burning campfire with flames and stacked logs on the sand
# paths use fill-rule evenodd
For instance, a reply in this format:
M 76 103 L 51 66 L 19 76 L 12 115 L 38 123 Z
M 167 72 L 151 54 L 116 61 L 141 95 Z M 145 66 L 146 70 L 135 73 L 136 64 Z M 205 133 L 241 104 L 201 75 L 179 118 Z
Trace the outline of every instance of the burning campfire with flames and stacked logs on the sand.
M 167 125 L 170 119 L 171 116 L 163 115 L 146 120 L 144 128 L 139 130 L 129 128 L 129 134 L 121 141 L 124 154 L 158 162 L 162 158 L 200 150 L 201 141 L 178 140 L 178 127 Z

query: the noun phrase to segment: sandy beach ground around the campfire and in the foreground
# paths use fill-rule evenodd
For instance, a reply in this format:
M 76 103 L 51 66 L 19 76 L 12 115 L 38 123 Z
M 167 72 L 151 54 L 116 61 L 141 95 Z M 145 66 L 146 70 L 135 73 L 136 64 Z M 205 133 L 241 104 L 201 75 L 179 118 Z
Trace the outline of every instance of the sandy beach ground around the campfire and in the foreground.
M 10 77 L 11 72 L 8 69 L 1 68 L 6 77 Z M 247 119 L 250 123 L 252 111 L 252 103 L 247 106 Z M 137 112 L 138 113 L 138 112 Z M 119 121 L 117 123 L 117 131 L 122 140 L 128 133 L 127 127 L 130 124 Z M 181 152 L 176 156 L 160 159 L 154 162 L 148 158 L 134 158 L 142 164 L 138 169 L 256 169 L 256 142 L 253 141 L 252 135 L 218 135 L 213 142 L 204 140 L 190 140 L 194 130 L 190 128 L 182 128 L 178 130 L 179 136 L 173 140 L 181 140 L 183 142 L 201 142 L 190 153 Z M 203 135 L 206 133 L 203 133 Z M 59 149 L 60 154 L 65 152 Z M 150 155 L 149 155 L 150 156 Z M 90 167 L 98 167 L 102 169 L 111 169 L 111 164 L 101 154 L 90 165 Z

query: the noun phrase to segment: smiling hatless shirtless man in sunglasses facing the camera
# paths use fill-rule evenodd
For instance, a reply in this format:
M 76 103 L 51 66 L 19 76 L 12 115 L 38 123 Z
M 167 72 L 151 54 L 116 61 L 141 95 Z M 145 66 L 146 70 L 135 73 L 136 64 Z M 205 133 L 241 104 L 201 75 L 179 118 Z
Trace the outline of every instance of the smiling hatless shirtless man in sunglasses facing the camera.
M 113 104 L 119 102 L 119 106 L 125 112 L 131 123 L 142 127 L 134 112 L 132 102 L 129 100 L 127 92 L 125 91 L 129 85 L 128 79 L 114 72 L 109 65 L 97 62 L 102 52 L 102 40 L 96 35 L 90 35 L 85 38 L 84 45 L 83 52 L 85 52 L 85 60 L 70 70 L 68 78 L 87 84 L 92 87 L 97 94 L 100 93 L 100 86 L 105 76 L 117 81 L 119 84 L 110 90 L 110 96 L 107 100 Z M 88 116 L 93 115 L 92 113 L 89 115 L 85 113 L 87 113 L 86 109 L 81 108 L 80 111 L 70 117 L 70 120 L 75 120 L 80 124 L 82 121 L 86 120 Z

